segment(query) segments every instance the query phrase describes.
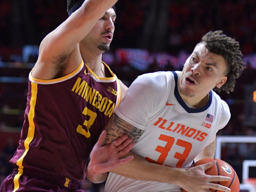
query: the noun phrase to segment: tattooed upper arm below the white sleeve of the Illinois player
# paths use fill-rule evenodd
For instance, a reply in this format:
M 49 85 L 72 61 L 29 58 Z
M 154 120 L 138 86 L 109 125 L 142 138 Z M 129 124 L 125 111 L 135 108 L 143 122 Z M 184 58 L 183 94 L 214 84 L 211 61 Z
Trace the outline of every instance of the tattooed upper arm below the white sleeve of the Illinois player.
M 113 114 L 107 124 L 107 138 L 106 143 L 113 142 L 124 134 L 132 138 L 132 142 L 136 143 L 143 133 L 143 130 L 138 129 L 131 124 L 127 123 L 116 114 Z

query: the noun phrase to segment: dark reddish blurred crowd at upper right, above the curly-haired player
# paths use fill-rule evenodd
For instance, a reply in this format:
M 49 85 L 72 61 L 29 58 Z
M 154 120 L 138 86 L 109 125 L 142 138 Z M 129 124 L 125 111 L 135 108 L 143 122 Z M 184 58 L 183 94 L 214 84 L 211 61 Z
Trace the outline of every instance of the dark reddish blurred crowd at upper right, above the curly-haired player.
M 244 54 L 255 52 L 256 1 L 170 2 L 169 45 L 171 50 L 184 48 L 189 50 L 208 31 L 221 29 L 228 35 L 236 37 Z

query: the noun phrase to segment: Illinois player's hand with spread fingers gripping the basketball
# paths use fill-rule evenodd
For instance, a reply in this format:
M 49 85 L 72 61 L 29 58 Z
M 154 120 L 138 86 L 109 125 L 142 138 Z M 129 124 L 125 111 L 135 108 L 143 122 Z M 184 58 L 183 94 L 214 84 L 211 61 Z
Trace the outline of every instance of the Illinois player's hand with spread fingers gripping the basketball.
M 230 189 L 220 184 L 215 184 L 215 181 L 229 181 L 230 177 L 212 176 L 205 174 L 205 171 L 216 164 L 215 161 L 195 167 L 184 169 L 185 174 L 180 179 L 179 186 L 189 192 L 211 192 L 211 189 L 218 191 L 230 192 Z

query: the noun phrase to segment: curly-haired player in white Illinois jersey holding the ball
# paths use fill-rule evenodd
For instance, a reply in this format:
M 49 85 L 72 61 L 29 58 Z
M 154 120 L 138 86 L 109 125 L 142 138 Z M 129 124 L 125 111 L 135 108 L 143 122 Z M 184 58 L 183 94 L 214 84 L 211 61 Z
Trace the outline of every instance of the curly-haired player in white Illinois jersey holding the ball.
M 135 142 L 132 152 L 139 156 L 109 173 L 105 191 L 229 192 L 212 182 L 231 178 L 204 173 L 215 162 L 189 167 L 193 160 L 215 154 L 216 133 L 228 123 L 230 111 L 213 90 L 234 90 L 244 68 L 241 58 L 235 39 L 209 32 L 182 72 L 139 76 L 107 125 L 106 139 L 110 143 L 128 134 Z

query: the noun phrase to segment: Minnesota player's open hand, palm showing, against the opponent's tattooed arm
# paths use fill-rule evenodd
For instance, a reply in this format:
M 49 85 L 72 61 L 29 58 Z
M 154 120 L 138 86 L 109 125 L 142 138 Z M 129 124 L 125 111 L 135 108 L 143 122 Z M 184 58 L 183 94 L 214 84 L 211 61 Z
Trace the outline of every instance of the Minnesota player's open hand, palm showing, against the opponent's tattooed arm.
M 112 143 L 102 146 L 106 137 L 107 132 L 103 131 L 90 154 L 90 167 L 95 174 L 108 172 L 133 159 L 133 156 L 122 159 L 122 156 L 126 155 L 134 146 L 128 135 L 123 135 Z

